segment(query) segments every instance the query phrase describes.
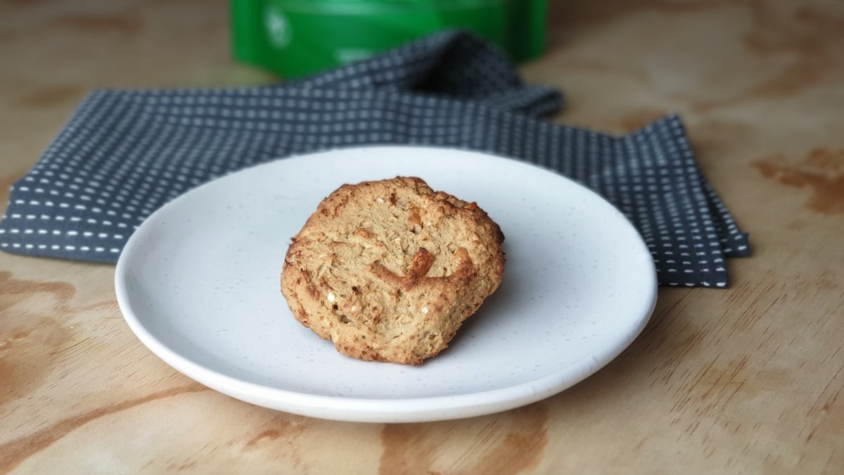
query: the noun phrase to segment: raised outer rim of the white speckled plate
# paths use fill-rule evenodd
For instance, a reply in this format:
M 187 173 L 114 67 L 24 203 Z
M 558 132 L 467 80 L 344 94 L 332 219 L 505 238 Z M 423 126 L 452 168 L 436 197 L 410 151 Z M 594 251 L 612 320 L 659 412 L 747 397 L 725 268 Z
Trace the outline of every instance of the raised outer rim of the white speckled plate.
M 126 282 L 128 272 L 127 267 L 129 266 L 128 263 L 133 254 L 137 252 L 137 248 L 133 247 L 133 243 L 140 239 L 139 236 L 141 233 L 138 231 L 145 223 L 154 222 L 154 216 L 160 216 L 161 214 L 168 212 L 167 210 L 170 210 L 171 207 L 174 206 L 174 203 L 180 201 L 187 194 L 192 194 L 200 188 L 219 182 L 219 180 L 232 177 L 233 175 L 246 172 L 254 168 L 268 166 L 279 161 L 310 160 L 313 156 L 324 156 L 355 150 L 372 149 L 414 149 L 440 152 L 447 150 L 476 156 L 485 156 L 502 161 L 515 162 L 525 167 L 531 167 L 551 173 L 555 177 L 571 183 L 576 188 L 579 188 L 580 191 L 592 194 L 593 198 L 600 199 L 605 205 L 614 210 L 614 215 L 621 218 L 621 220 L 625 222 L 625 225 L 630 227 L 634 232 L 637 237 L 636 241 L 640 251 L 643 254 L 647 254 L 648 258 L 652 261 L 651 253 L 647 248 L 647 244 L 641 238 L 641 234 L 635 227 L 633 227 L 630 220 L 623 213 L 621 213 L 614 205 L 609 203 L 607 199 L 603 198 L 603 196 L 595 193 L 582 183 L 578 183 L 569 177 L 565 177 L 549 167 L 544 167 L 539 164 L 507 156 L 495 155 L 485 151 L 454 147 L 427 145 L 363 145 L 331 148 L 298 155 L 278 157 L 250 167 L 241 168 L 240 170 L 236 170 L 234 172 L 225 173 L 222 176 L 191 188 L 175 199 L 171 199 L 165 205 L 162 205 L 158 210 L 155 210 L 151 215 L 144 219 L 144 221 L 128 238 L 126 245 L 118 257 L 115 268 L 114 286 L 116 300 L 118 307 L 123 314 L 124 320 L 130 327 L 130 330 L 133 331 L 135 336 L 138 337 L 138 340 L 140 340 L 145 347 L 147 347 L 162 361 L 167 363 L 171 368 L 176 369 L 190 379 L 193 379 L 225 395 L 234 397 L 235 399 L 246 401 L 261 407 L 268 407 L 274 410 L 291 412 L 315 418 L 370 423 L 407 423 L 469 418 L 522 407 L 532 402 L 543 400 L 549 396 L 554 396 L 555 394 L 580 383 L 583 379 L 587 379 L 587 377 L 596 373 L 599 369 L 602 369 L 609 362 L 614 360 L 614 358 L 617 358 L 621 352 L 624 352 L 627 347 L 630 347 L 630 344 L 635 341 L 639 335 L 641 335 L 641 331 L 644 330 L 647 322 L 651 319 L 653 310 L 657 303 L 656 266 L 652 266 L 652 270 L 648 272 L 647 282 L 642 286 L 643 288 L 647 287 L 650 292 L 646 308 L 642 309 L 643 311 L 641 312 L 641 315 L 637 315 L 639 317 L 637 320 L 638 324 L 630 326 L 630 331 L 625 335 L 625 339 L 619 339 L 614 347 L 614 351 L 603 353 L 603 358 L 595 358 L 592 355 L 592 363 L 585 367 L 579 367 L 576 372 L 576 376 L 571 376 L 571 370 L 569 370 L 569 372 L 566 373 L 566 377 L 562 378 L 562 373 L 564 373 L 564 371 L 555 370 L 550 374 L 545 374 L 536 379 L 532 379 L 527 383 L 522 382 L 516 385 L 495 388 L 493 390 L 482 390 L 452 396 L 385 399 L 375 397 L 326 396 L 306 394 L 295 390 L 271 388 L 265 385 L 260 385 L 256 382 L 238 379 L 229 374 L 215 371 L 214 369 L 206 368 L 202 364 L 194 362 L 190 358 L 186 358 L 179 352 L 170 348 L 163 341 L 160 341 L 157 337 L 155 337 L 153 333 L 143 325 L 143 319 L 139 318 L 138 314 L 134 312 L 130 303 L 129 291 L 127 289 Z M 590 359 L 590 357 L 580 358 L 575 362 L 572 362 L 571 365 L 581 363 L 584 359 Z M 560 378 L 565 379 L 565 383 L 555 384 L 555 381 Z M 483 396 L 483 401 L 479 402 L 479 396 Z

